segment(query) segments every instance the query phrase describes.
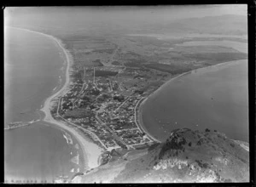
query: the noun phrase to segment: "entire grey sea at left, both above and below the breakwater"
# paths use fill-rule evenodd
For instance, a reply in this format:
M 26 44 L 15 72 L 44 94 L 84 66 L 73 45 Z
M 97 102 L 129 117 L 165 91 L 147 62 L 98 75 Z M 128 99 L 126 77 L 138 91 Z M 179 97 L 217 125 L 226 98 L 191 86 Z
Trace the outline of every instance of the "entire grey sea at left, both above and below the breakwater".
M 4 127 L 9 122 L 42 117 L 38 110 L 44 100 L 64 84 L 63 58 L 61 48 L 52 39 L 5 28 Z M 4 130 L 5 180 L 51 183 L 59 176 L 82 172 L 84 168 L 74 163 L 78 154 L 83 162 L 79 144 L 72 136 L 73 144 L 67 144 L 67 136 L 64 130 L 44 121 Z

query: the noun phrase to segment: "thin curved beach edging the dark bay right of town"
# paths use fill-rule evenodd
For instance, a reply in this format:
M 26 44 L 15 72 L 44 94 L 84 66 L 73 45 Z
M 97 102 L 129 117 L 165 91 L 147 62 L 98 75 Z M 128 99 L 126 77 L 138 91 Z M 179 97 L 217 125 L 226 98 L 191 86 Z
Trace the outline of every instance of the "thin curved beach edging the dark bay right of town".
M 183 77 L 184 75 L 186 74 L 189 74 L 193 71 L 199 71 L 199 70 L 203 70 L 203 69 L 206 69 L 206 68 L 209 68 L 209 67 L 217 67 L 218 65 L 229 65 L 229 64 L 232 64 L 232 63 L 236 63 L 238 61 L 241 61 L 241 60 L 246 60 L 246 59 L 237 59 L 237 60 L 232 60 L 232 61 L 227 61 L 227 62 L 222 62 L 222 63 L 218 63 L 216 65 L 208 65 L 208 66 L 205 66 L 205 67 L 201 67 L 201 68 L 198 68 L 198 69 L 195 69 L 195 70 L 191 70 L 191 71 L 187 71 L 187 72 L 183 72 L 182 74 L 179 74 L 177 75 L 177 77 L 172 77 L 170 78 L 169 80 L 167 80 L 165 83 L 163 83 L 160 88 L 157 88 L 156 90 L 154 90 L 153 93 L 149 94 L 148 97 L 146 97 L 145 99 L 143 99 L 142 103 L 140 105 L 138 105 L 138 112 L 137 112 L 137 115 L 138 115 L 138 125 L 143 129 L 143 131 L 145 133 L 147 133 L 149 135 L 149 137 L 153 137 L 154 136 L 148 132 L 147 130 L 147 127 L 144 126 L 144 123 L 143 123 L 143 105 L 146 103 L 146 101 L 148 100 L 148 98 L 150 97 L 153 97 L 154 94 L 157 94 L 158 92 L 160 92 L 160 90 L 164 87 L 166 87 L 166 85 L 168 85 L 170 82 L 174 81 L 175 79 L 177 79 L 178 77 Z M 156 139 L 156 138 L 154 138 Z M 159 140 L 160 141 L 160 140 Z M 160 141 L 161 142 L 161 141 Z

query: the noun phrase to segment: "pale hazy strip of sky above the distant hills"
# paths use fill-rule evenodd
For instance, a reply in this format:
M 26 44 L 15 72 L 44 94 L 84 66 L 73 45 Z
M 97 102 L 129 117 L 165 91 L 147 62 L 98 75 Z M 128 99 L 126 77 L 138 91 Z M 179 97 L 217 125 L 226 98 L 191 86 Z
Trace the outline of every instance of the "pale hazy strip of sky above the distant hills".
M 10 15 L 10 13 L 12 15 Z M 176 5 L 176 6 L 108 6 L 108 7 L 7 7 L 4 9 L 5 18 L 12 16 L 46 16 L 47 14 L 57 13 L 83 14 L 94 16 L 97 19 L 113 20 L 177 20 L 190 17 L 203 17 L 207 15 L 221 14 L 242 14 L 247 15 L 246 4 L 228 4 L 228 5 Z M 10 16 L 9 16 L 10 15 Z

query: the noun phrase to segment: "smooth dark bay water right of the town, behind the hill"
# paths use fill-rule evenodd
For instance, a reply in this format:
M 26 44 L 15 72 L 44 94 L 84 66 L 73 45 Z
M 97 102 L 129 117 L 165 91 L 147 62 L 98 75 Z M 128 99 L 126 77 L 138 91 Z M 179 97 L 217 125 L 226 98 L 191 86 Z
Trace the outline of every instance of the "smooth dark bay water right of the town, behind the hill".
M 206 128 L 248 142 L 247 59 L 191 71 L 167 82 L 142 106 L 143 125 L 166 140 L 173 129 Z

